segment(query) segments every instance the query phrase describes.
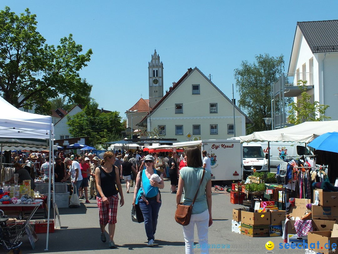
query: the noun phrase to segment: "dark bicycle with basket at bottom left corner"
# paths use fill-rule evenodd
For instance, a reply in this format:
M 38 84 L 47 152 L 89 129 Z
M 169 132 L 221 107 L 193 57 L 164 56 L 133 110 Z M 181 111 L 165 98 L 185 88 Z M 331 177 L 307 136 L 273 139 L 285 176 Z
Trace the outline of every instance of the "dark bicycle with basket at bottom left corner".
M 10 223 L 7 224 L 9 217 L 0 210 L 0 244 L 5 251 L 12 251 L 13 254 L 21 253 L 20 246 L 22 242 L 19 241 L 25 232 L 24 223 Z

